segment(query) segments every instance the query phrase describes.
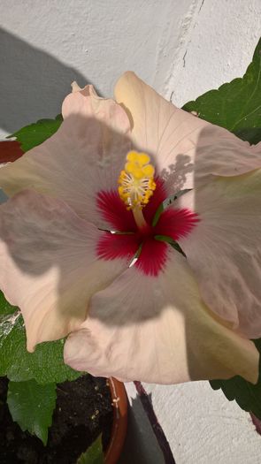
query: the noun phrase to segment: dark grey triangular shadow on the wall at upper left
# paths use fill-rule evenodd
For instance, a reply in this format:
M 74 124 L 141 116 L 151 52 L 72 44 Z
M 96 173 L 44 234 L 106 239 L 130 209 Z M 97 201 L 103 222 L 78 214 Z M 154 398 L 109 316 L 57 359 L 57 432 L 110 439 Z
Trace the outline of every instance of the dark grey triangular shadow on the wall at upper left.
M 71 90 L 90 82 L 80 72 L 0 28 L 0 128 L 13 133 L 41 118 L 54 118 Z

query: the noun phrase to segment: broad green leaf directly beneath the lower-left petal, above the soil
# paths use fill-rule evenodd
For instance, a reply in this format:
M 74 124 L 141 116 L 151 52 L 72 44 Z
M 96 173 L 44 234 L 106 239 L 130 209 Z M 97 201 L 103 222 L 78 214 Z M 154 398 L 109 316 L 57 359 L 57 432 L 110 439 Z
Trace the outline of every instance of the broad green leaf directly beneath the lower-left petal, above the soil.
M 28 353 L 26 331 L 19 309 L 0 315 L 0 376 L 14 382 L 35 379 L 39 384 L 65 382 L 81 376 L 81 372 L 66 366 L 63 360 L 64 339 L 36 346 Z

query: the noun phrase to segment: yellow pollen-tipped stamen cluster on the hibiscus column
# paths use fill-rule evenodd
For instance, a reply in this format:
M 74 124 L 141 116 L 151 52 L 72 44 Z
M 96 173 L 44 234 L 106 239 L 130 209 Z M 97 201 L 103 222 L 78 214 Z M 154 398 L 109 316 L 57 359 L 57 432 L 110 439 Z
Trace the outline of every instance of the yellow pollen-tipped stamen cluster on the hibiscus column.
M 124 171 L 119 174 L 119 196 L 127 209 L 142 209 L 150 200 L 156 184 L 155 169 L 146 153 L 130 151 Z

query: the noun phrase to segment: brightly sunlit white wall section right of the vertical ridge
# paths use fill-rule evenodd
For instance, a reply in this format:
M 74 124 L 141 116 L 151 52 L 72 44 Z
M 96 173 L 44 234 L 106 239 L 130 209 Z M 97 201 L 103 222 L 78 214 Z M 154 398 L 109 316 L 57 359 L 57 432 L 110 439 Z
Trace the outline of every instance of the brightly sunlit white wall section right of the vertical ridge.
M 242 76 L 261 35 L 261 0 L 203 0 L 185 35 L 165 88 L 178 105 Z

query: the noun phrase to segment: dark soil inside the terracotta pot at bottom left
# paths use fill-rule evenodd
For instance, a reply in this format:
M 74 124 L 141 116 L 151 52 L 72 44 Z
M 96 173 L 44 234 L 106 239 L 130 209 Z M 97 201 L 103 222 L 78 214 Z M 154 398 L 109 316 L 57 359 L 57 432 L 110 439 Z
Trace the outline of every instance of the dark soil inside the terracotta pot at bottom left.
M 80 377 L 58 384 L 57 407 L 47 446 L 12 422 L 6 404 L 8 380 L 0 377 L 1 464 L 75 464 L 81 453 L 103 433 L 106 449 L 111 436 L 111 393 L 104 378 Z

